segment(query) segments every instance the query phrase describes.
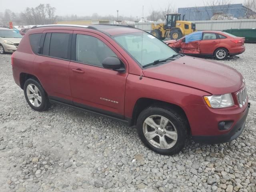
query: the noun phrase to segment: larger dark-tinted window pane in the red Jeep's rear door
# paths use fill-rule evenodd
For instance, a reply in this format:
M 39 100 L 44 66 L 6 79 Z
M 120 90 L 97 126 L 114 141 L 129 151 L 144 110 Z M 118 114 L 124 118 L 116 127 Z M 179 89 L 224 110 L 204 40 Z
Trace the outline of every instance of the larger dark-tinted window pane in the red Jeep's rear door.
M 68 59 L 69 33 L 52 33 L 49 56 Z

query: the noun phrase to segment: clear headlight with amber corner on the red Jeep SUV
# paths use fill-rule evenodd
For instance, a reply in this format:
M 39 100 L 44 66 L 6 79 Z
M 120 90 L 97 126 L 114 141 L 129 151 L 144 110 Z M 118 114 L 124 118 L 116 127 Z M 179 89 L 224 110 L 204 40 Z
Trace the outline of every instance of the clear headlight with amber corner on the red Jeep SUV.
M 204 96 L 204 100 L 210 108 L 225 108 L 234 105 L 234 100 L 231 93 Z

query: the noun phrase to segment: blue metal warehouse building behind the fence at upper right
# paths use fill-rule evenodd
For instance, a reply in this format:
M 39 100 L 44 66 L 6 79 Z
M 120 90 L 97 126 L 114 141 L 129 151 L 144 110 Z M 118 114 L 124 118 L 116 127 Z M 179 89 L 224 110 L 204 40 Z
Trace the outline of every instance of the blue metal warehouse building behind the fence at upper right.
M 244 18 L 248 11 L 252 12 L 242 4 L 178 8 L 178 13 L 189 21 Z

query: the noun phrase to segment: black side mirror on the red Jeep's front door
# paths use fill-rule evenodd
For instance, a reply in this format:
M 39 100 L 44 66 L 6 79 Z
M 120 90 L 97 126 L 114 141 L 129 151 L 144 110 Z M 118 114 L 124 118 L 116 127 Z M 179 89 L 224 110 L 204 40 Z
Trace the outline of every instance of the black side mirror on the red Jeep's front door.
M 102 61 L 102 66 L 118 72 L 125 72 L 124 63 L 117 57 L 107 57 Z

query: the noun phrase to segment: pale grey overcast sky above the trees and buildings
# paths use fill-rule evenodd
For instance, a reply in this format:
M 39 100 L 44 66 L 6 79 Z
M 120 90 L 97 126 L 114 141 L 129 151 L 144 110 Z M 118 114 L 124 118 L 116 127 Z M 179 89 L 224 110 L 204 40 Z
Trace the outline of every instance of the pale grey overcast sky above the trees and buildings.
M 169 3 L 176 8 L 204 6 L 207 0 L 0 0 L 0 12 L 10 9 L 13 12 L 24 11 L 26 7 L 35 7 L 40 3 L 47 4 L 56 8 L 57 15 L 77 16 L 91 15 L 114 15 L 119 10 L 121 16 L 138 16 L 142 15 L 142 6 L 144 5 L 144 16 L 148 15 L 150 10 L 164 10 Z M 243 3 L 243 0 L 231 0 L 232 3 Z

